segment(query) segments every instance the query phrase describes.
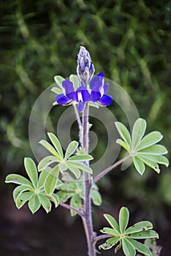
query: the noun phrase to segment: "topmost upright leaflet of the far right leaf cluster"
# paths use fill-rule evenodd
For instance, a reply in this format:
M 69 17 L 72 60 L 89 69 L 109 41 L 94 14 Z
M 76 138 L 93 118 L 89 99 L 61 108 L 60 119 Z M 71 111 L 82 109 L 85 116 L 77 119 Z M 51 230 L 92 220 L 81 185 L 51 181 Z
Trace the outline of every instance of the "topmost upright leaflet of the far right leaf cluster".
M 132 149 L 140 146 L 140 141 L 145 134 L 146 127 L 145 119 L 138 118 L 137 121 L 135 121 L 134 127 L 132 128 Z

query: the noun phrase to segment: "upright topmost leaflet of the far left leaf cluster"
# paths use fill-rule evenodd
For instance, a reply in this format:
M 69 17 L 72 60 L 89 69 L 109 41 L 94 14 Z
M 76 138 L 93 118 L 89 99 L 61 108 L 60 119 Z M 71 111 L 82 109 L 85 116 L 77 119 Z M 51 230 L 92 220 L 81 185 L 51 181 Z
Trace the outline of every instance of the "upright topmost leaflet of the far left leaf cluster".
M 34 188 L 37 189 L 38 174 L 37 174 L 37 167 L 34 163 L 34 160 L 32 160 L 29 157 L 25 157 L 24 166 L 28 174 L 28 177 L 31 179 L 31 182 L 34 185 Z

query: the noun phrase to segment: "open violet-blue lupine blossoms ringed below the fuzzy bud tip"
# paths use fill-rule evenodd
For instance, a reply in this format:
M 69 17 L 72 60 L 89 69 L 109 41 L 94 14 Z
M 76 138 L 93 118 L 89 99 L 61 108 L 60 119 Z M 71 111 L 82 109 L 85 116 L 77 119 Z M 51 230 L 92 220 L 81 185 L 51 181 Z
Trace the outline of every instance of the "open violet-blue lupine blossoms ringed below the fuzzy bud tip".
M 82 112 L 85 102 L 97 102 L 100 105 L 108 106 L 113 102 L 110 95 L 105 94 L 108 84 L 104 83 L 104 73 L 99 73 L 90 81 L 90 92 L 86 87 L 80 86 L 76 91 L 73 83 L 69 80 L 62 82 L 64 94 L 56 95 L 56 102 L 60 105 L 67 105 L 71 102 L 77 102 L 77 109 Z

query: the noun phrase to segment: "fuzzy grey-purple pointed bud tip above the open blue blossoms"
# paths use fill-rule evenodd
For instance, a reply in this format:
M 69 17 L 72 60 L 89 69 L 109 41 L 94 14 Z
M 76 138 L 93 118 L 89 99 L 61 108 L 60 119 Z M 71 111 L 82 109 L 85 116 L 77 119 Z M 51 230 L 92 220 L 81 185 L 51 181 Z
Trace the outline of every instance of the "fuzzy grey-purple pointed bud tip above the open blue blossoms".
M 91 62 L 91 56 L 88 50 L 80 46 L 80 51 L 77 55 L 77 76 L 83 82 L 84 86 L 93 78 L 94 71 L 94 64 Z

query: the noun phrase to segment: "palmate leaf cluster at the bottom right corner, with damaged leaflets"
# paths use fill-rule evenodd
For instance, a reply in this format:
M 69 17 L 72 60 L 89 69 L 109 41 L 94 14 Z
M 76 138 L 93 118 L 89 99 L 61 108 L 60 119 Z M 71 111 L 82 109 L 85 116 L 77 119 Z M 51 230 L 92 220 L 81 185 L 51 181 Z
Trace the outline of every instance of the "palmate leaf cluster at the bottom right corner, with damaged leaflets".
M 137 239 L 159 238 L 156 231 L 152 230 L 153 225 L 151 222 L 137 222 L 127 228 L 129 210 L 126 207 L 122 207 L 119 212 L 119 225 L 110 214 L 104 214 L 104 217 L 111 227 L 104 227 L 101 232 L 111 237 L 108 238 L 104 244 L 101 244 L 99 249 L 110 249 L 119 243 L 118 246 L 115 247 L 115 253 L 122 247 L 123 253 L 126 256 L 134 256 L 136 252 L 140 252 L 145 256 L 152 256 L 148 246 L 136 241 Z

